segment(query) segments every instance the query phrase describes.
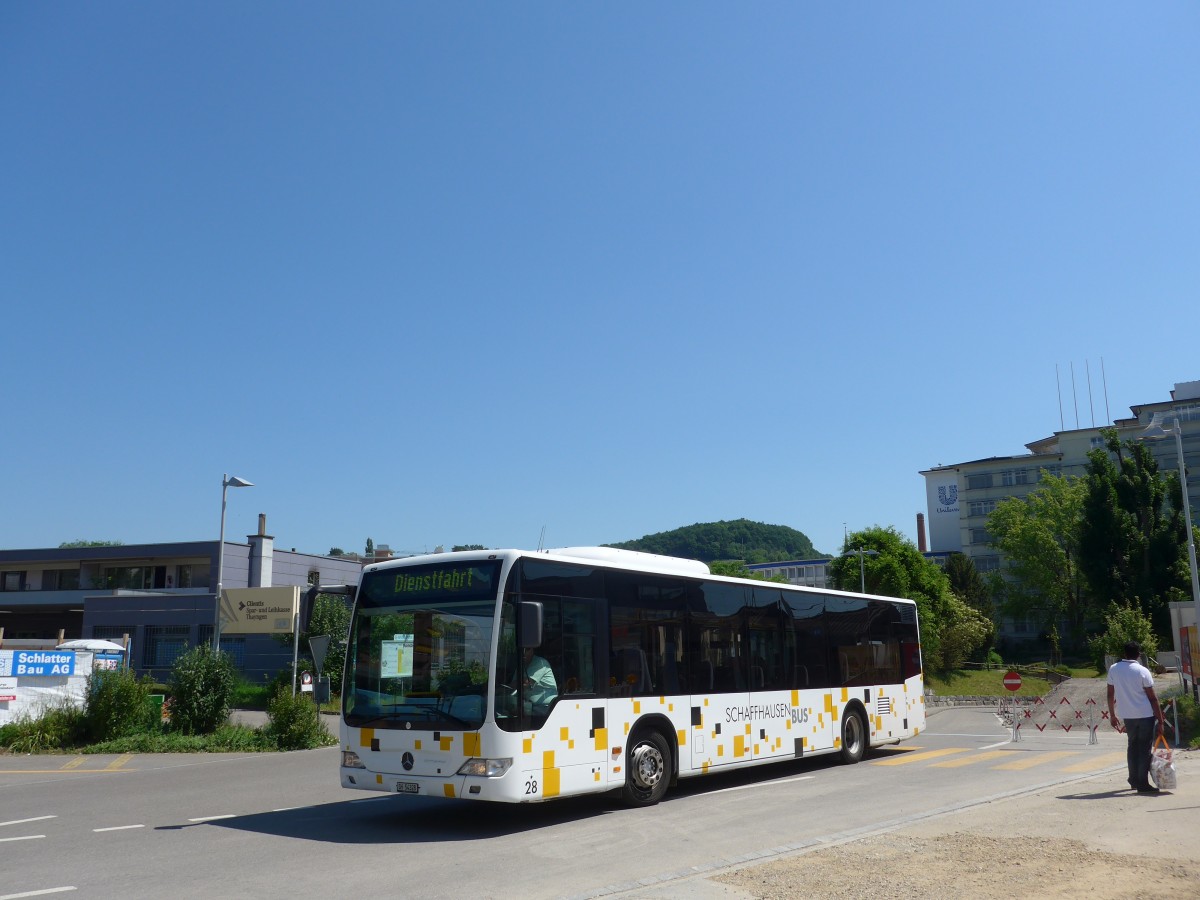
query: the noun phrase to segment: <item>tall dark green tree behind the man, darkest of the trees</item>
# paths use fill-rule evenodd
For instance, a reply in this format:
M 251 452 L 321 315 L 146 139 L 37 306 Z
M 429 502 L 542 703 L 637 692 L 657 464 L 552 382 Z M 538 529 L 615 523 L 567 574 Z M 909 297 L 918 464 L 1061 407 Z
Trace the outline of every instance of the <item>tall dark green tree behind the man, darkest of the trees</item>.
M 1165 634 L 1168 601 L 1188 584 L 1178 475 L 1160 475 L 1144 442 L 1103 434 L 1087 455 L 1080 568 L 1098 605 L 1136 605 Z

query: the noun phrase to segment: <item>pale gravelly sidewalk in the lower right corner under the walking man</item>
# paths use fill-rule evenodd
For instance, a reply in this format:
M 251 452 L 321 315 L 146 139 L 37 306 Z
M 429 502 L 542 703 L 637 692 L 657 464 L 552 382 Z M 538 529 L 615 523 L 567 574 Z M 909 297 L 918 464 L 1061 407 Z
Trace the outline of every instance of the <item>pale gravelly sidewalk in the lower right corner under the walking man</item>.
M 1087 775 L 653 896 L 1198 896 L 1200 751 L 1175 764 L 1177 790 L 1157 797 L 1129 791 L 1124 769 Z

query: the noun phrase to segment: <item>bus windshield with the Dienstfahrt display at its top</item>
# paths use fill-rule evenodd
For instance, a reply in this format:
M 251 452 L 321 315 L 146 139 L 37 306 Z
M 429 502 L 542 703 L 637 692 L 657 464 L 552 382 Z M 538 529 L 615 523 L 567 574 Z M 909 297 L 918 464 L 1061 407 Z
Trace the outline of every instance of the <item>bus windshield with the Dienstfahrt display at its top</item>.
M 350 622 L 346 724 L 479 728 L 499 576 L 499 560 L 365 572 Z

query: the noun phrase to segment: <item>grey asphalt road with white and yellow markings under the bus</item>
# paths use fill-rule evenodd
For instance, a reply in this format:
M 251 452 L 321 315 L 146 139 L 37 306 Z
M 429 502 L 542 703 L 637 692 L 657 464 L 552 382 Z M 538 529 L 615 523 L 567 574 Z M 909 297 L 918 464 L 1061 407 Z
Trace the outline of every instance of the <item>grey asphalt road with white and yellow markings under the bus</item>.
M 1097 772 L 1124 779 L 1124 739 L 1103 728 L 1096 745 L 1086 730 L 1012 744 L 985 709 L 929 726 L 858 766 L 715 774 L 642 810 L 348 792 L 336 749 L 0 756 L 0 900 L 637 893 Z

